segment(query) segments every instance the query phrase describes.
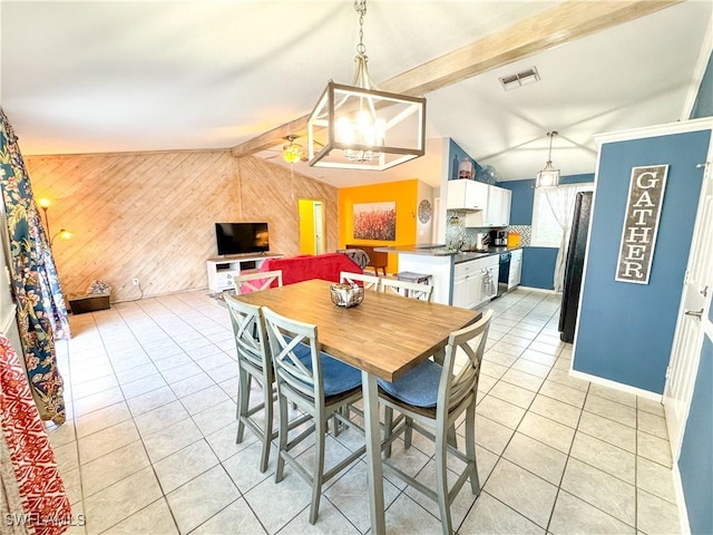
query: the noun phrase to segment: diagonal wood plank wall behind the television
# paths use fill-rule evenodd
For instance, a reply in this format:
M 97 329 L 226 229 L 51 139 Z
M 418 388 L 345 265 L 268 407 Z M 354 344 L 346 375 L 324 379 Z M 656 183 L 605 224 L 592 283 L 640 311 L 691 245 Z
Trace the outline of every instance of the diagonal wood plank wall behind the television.
M 207 288 L 216 222 L 266 221 L 271 251 L 300 251 L 297 198 L 322 200 L 328 251 L 338 244 L 336 188 L 229 150 L 26 156 L 36 198 L 47 197 L 65 295 L 92 280 L 111 301 Z

